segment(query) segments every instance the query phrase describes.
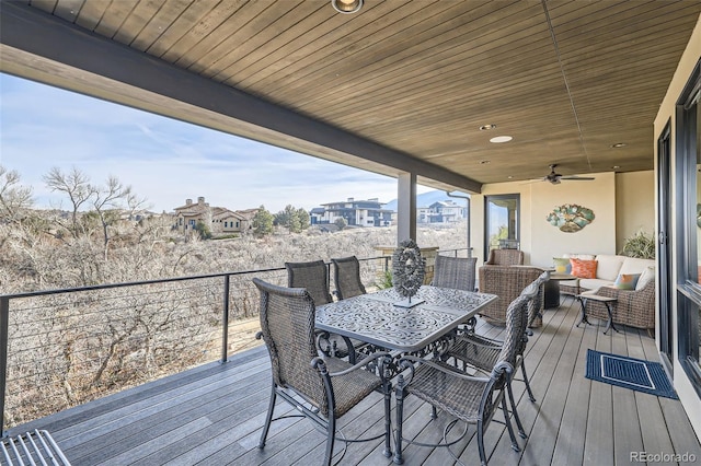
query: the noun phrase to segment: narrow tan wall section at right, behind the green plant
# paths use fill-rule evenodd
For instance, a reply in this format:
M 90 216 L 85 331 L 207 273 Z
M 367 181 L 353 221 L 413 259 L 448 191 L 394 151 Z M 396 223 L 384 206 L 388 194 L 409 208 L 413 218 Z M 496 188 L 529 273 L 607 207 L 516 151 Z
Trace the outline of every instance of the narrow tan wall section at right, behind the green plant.
M 616 251 L 627 237 L 655 231 L 655 172 L 616 174 Z

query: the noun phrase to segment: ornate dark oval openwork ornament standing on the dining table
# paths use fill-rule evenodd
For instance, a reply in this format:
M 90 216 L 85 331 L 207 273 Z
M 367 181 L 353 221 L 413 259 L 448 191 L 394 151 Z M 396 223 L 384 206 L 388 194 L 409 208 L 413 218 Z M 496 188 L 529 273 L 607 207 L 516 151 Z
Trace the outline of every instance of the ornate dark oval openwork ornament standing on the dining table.
M 424 283 L 426 259 L 421 256 L 421 249 L 414 240 L 404 240 L 392 254 L 392 284 L 394 291 L 406 300 L 394 303 L 401 307 L 412 307 L 422 301 L 412 302 L 412 296 L 418 292 Z

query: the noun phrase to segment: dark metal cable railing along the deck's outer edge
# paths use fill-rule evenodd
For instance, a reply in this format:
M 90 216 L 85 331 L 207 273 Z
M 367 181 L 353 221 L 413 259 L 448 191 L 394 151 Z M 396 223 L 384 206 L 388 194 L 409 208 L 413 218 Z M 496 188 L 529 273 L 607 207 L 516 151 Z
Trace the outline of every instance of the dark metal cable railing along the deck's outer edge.
M 359 261 L 387 286 L 391 257 Z M 287 284 L 279 267 L 0 295 L 2 431 L 261 345 L 253 277 Z

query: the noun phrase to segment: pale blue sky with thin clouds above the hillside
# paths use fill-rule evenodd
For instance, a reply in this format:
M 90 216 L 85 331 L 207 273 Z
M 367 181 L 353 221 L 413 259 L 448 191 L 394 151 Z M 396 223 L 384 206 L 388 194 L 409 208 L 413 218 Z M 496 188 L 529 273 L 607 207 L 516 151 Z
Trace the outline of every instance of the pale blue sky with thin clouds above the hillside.
M 42 180 L 54 166 L 78 167 L 95 184 L 116 176 L 158 212 L 198 196 L 211 206 L 264 205 L 271 212 L 290 203 L 309 210 L 349 197 L 397 198 L 391 177 L 4 73 L 0 164 L 33 187 L 39 208 L 60 207 Z

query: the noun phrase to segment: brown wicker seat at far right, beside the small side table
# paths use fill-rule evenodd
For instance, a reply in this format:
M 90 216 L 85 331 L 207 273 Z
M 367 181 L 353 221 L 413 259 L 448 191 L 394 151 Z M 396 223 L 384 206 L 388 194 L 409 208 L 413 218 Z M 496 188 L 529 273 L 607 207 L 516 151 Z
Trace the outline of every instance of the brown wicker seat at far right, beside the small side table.
M 600 296 L 616 298 L 611 305 L 611 316 L 614 324 L 622 324 L 635 328 L 655 328 L 655 280 L 650 280 L 640 290 L 620 290 L 618 288 L 601 287 L 596 292 Z M 587 302 L 587 316 L 608 319 L 606 305 L 596 301 Z

